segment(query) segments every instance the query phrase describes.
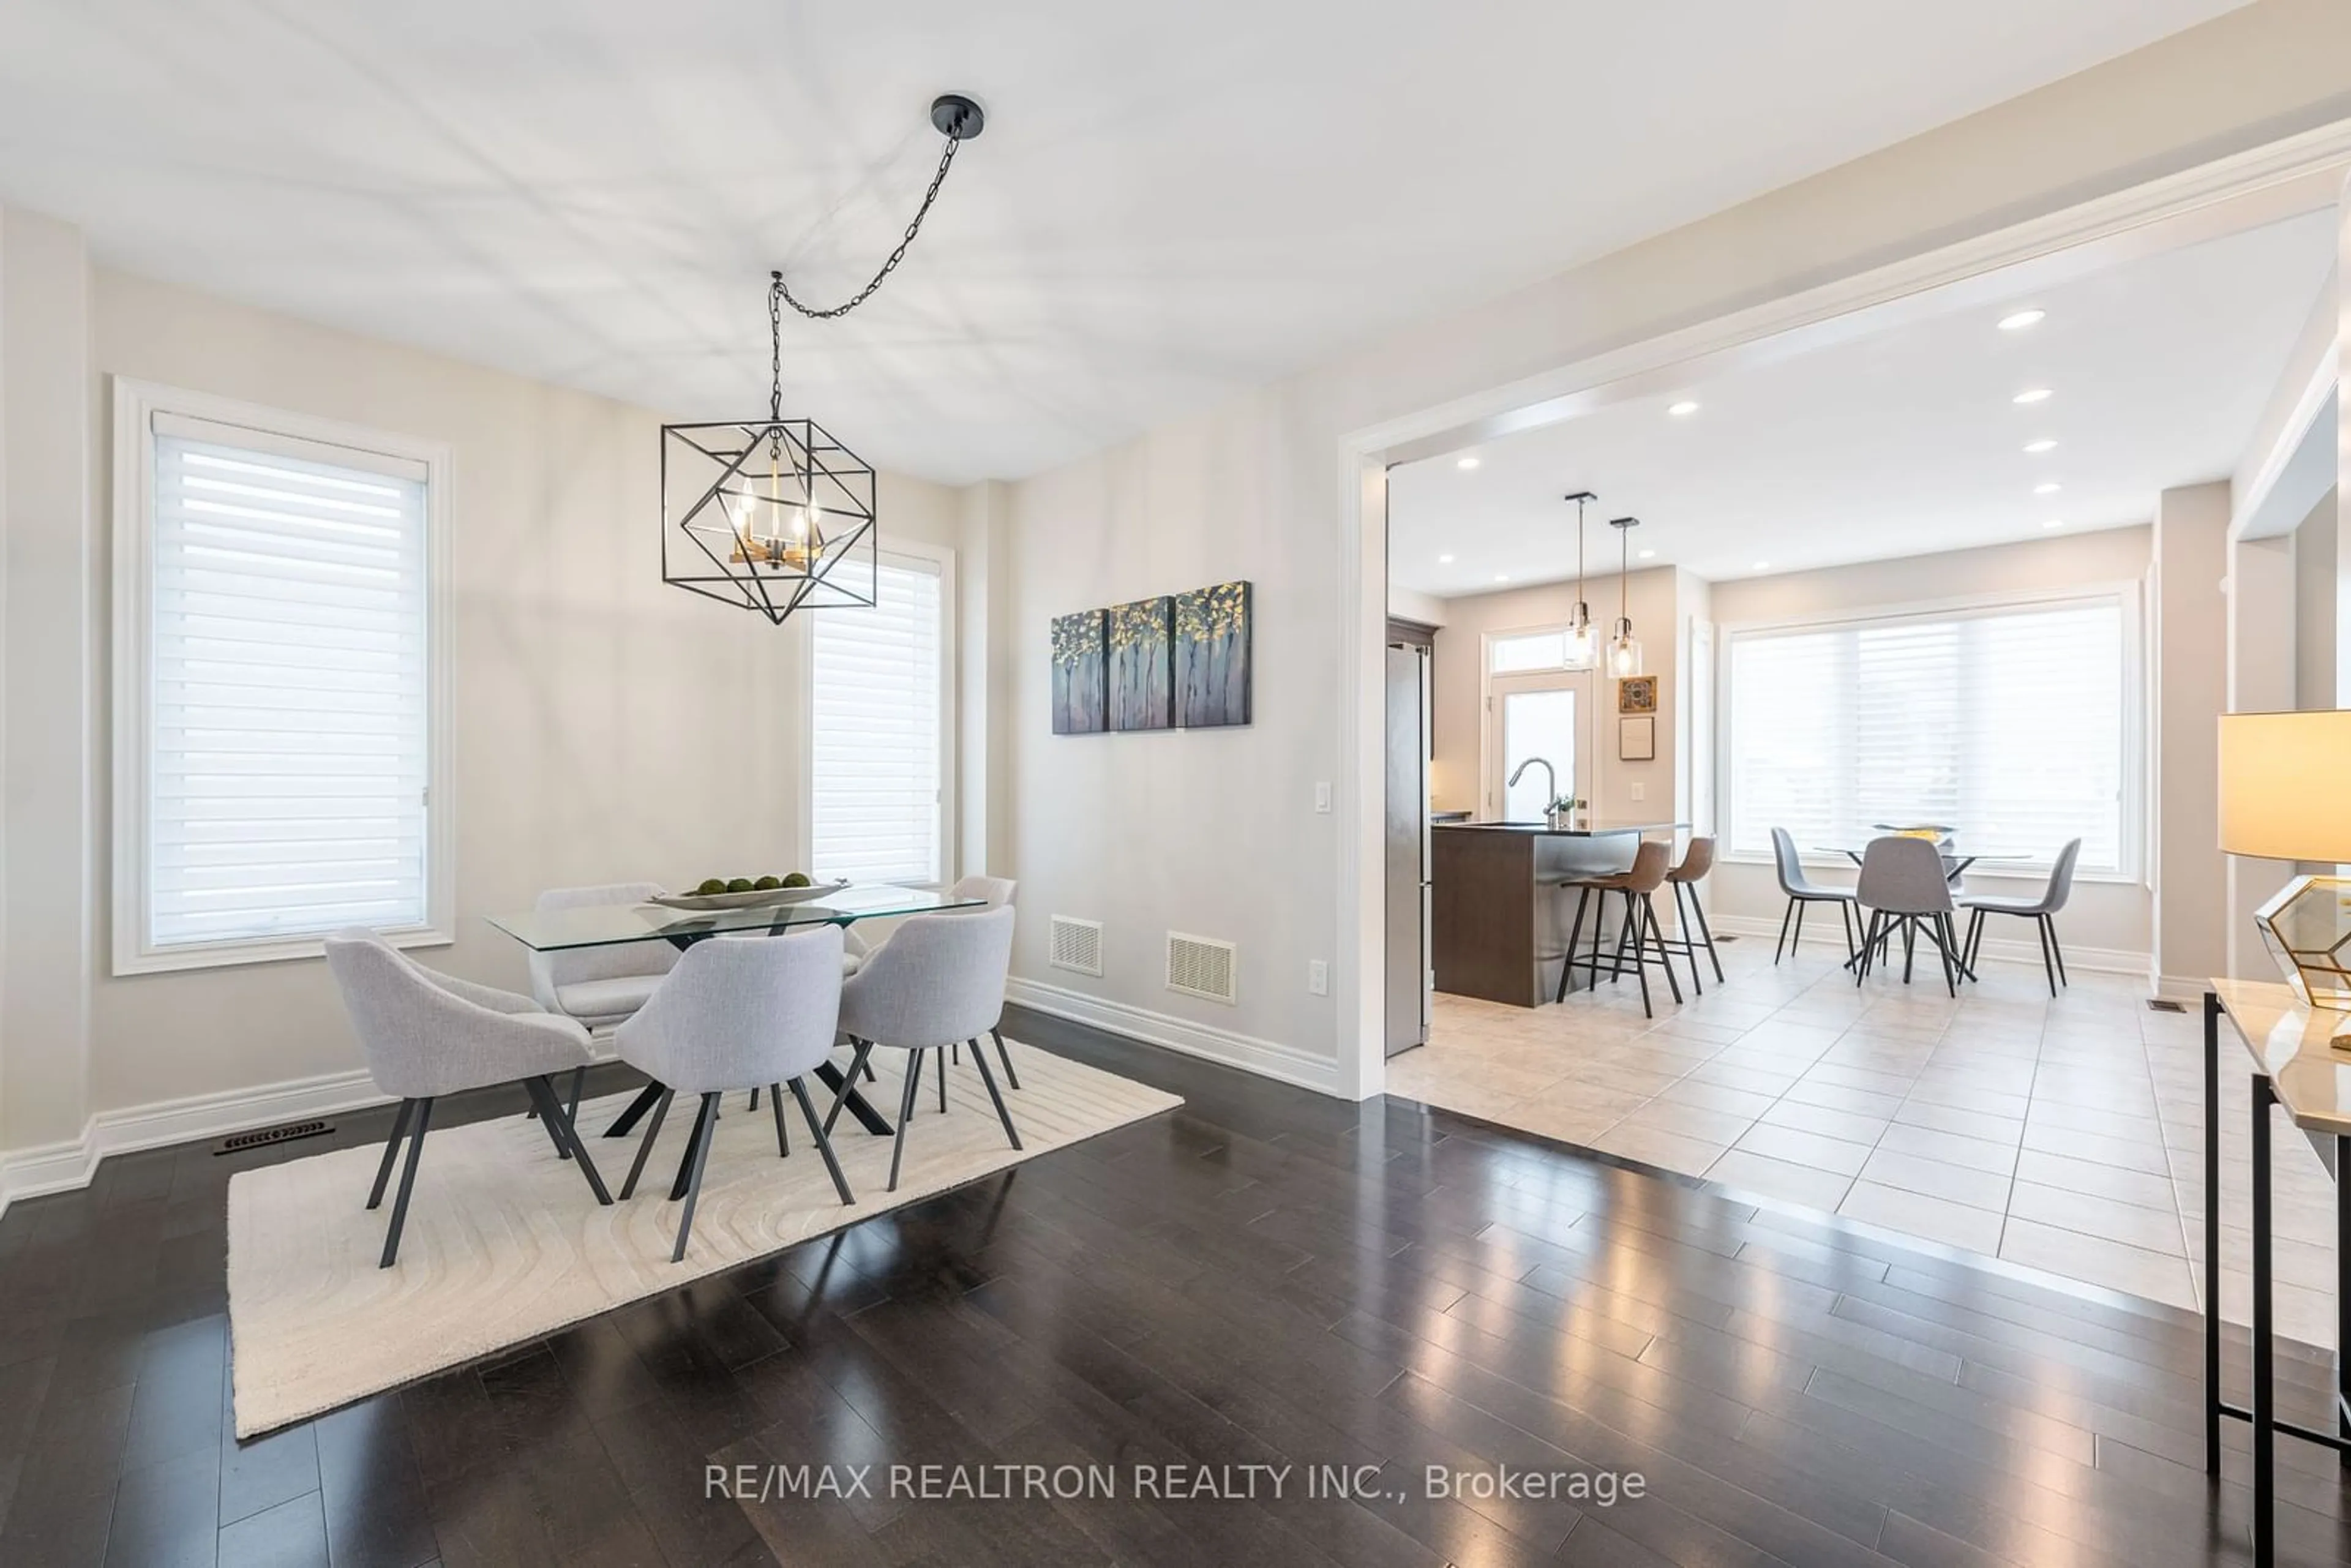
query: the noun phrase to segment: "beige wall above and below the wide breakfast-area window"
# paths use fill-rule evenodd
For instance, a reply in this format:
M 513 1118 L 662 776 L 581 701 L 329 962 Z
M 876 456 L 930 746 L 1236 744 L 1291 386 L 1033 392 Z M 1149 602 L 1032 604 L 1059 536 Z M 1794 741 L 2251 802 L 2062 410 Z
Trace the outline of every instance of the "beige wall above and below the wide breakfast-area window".
M 2050 588 L 2090 588 L 2142 583 L 2151 564 L 2146 527 L 2104 529 L 2064 538 L 2036 538 L 1982 550 L 1947 550 L 1902 559 L 1831 567 L 1824 571 L 1789 571 L 1782 576 L 1737 578 L 1714 585 L 1716 635 L 1740 625 L 1803 621 L 1815 616 L 1867 616 L 1907 604 L 1933 604 L 1982 595 L 2043 592 Z M 1737 790 L 1737 778 L 1728 780 Z M 1822 858 L 1820 882 L 1850 884 L 1853 865 Z M 2022 884 L 1984 870 L 1970 870 L 1968 884 L 1994 893 L 2024 893 L 2041 879 Z M 1730 929 L 1777 931 L 1784 898 L 1768 860 L 1726 860 L 1714 875 L 1712 912 Z M 2144 877 L 2130 882 L 2076 882 L 2074 903 L 2062 917 L 2069 952 L 2090 964 L 2121 964 L 2144 971 L 2154 896 Z M 1991 929 L 1987 943 L 2010 933 Z M 2027 943 L 2029 947 L 2029 943 Z

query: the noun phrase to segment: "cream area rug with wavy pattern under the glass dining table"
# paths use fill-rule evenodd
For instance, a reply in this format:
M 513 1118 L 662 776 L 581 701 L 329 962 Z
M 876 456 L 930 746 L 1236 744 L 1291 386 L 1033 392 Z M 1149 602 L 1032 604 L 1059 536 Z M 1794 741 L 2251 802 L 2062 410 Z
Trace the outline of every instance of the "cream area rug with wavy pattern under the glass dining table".
M 896 1119 L 898 1053 L 877 1053 L 875 1065 L 882 1081 L 865 1093 Z M 433 1128 L 400 1262 L 390 1269 L 379 1269 L 376 1258 L 393 1192 L 383 1208 L 364 1208 L 381 1143 L 242 1171 L 228 1182 L 237 1436 L 320 1415 L 1183 1105 L 1178 1095 L 1020 1041 L 1013 1067 L 1020 1091 L 1006 1091 L 1006 1105 L 1025 1147 L 1016 1152 L 1004 1140 L 966 1058 L 947 1074 L 945 1117 L 938 1079 L 924 1074 L 924 1107 L 907 1128 L 898 1192 L 884 1192 L 891 1140 L 868 1135 L 844 1114 L 832 1147 L 858 1197 L 851 1208 L 835 1194 L 797 1107 L 785 1105 L 792 1157 L 778 1159 L 764 1095 L 757 1112 L 745 1112 L 745 1095 L 726 1095 L 684 1262 L 670 1262 L 682 1206 L 668 1201 L 694 1124 L 684 1095 L 670 1107 L 637 1197 L 611 1208 L 600 1208 L 581 1173 L 555 1159 L 536 1121 L 517 1114 Z M 828 1093 L 813 1079 L 811 1095 L 823 1112 Z M 597 1133 L 628 1100 L 611 1095 L 581 1107 L 588 1152 L 614 1197 L 642 1128 L 625 1140 Z M 395 1190 L 397 1180 L 395 1173 Z

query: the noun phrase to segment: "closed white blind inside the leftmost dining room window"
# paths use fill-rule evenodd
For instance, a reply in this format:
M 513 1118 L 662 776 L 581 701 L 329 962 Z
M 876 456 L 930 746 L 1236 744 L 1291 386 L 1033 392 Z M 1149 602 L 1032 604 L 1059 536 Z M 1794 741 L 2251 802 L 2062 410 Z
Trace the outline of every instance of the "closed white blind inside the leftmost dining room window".
M 428 919 L 426 465 L 155 416 L 146 943 Z

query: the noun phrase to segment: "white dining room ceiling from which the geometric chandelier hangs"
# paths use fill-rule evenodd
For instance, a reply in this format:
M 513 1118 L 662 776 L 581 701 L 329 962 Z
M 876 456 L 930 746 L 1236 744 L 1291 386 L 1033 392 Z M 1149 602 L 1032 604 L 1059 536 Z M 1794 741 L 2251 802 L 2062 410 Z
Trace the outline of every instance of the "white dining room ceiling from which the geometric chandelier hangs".
M 0 202 L 115 266 L 1016 477 L 2241 0 L 7 0 Z

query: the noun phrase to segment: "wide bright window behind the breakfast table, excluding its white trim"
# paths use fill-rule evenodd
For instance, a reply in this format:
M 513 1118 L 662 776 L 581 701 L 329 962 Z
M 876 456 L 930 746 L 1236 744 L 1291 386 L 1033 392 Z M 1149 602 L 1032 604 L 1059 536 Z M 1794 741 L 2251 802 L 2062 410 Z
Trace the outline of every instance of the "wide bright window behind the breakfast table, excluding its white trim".
M 2135 872 L 2137 616 L 2128 592 L 1730 639 L 1730 851 L 1949 823 L 1961 846 Z

